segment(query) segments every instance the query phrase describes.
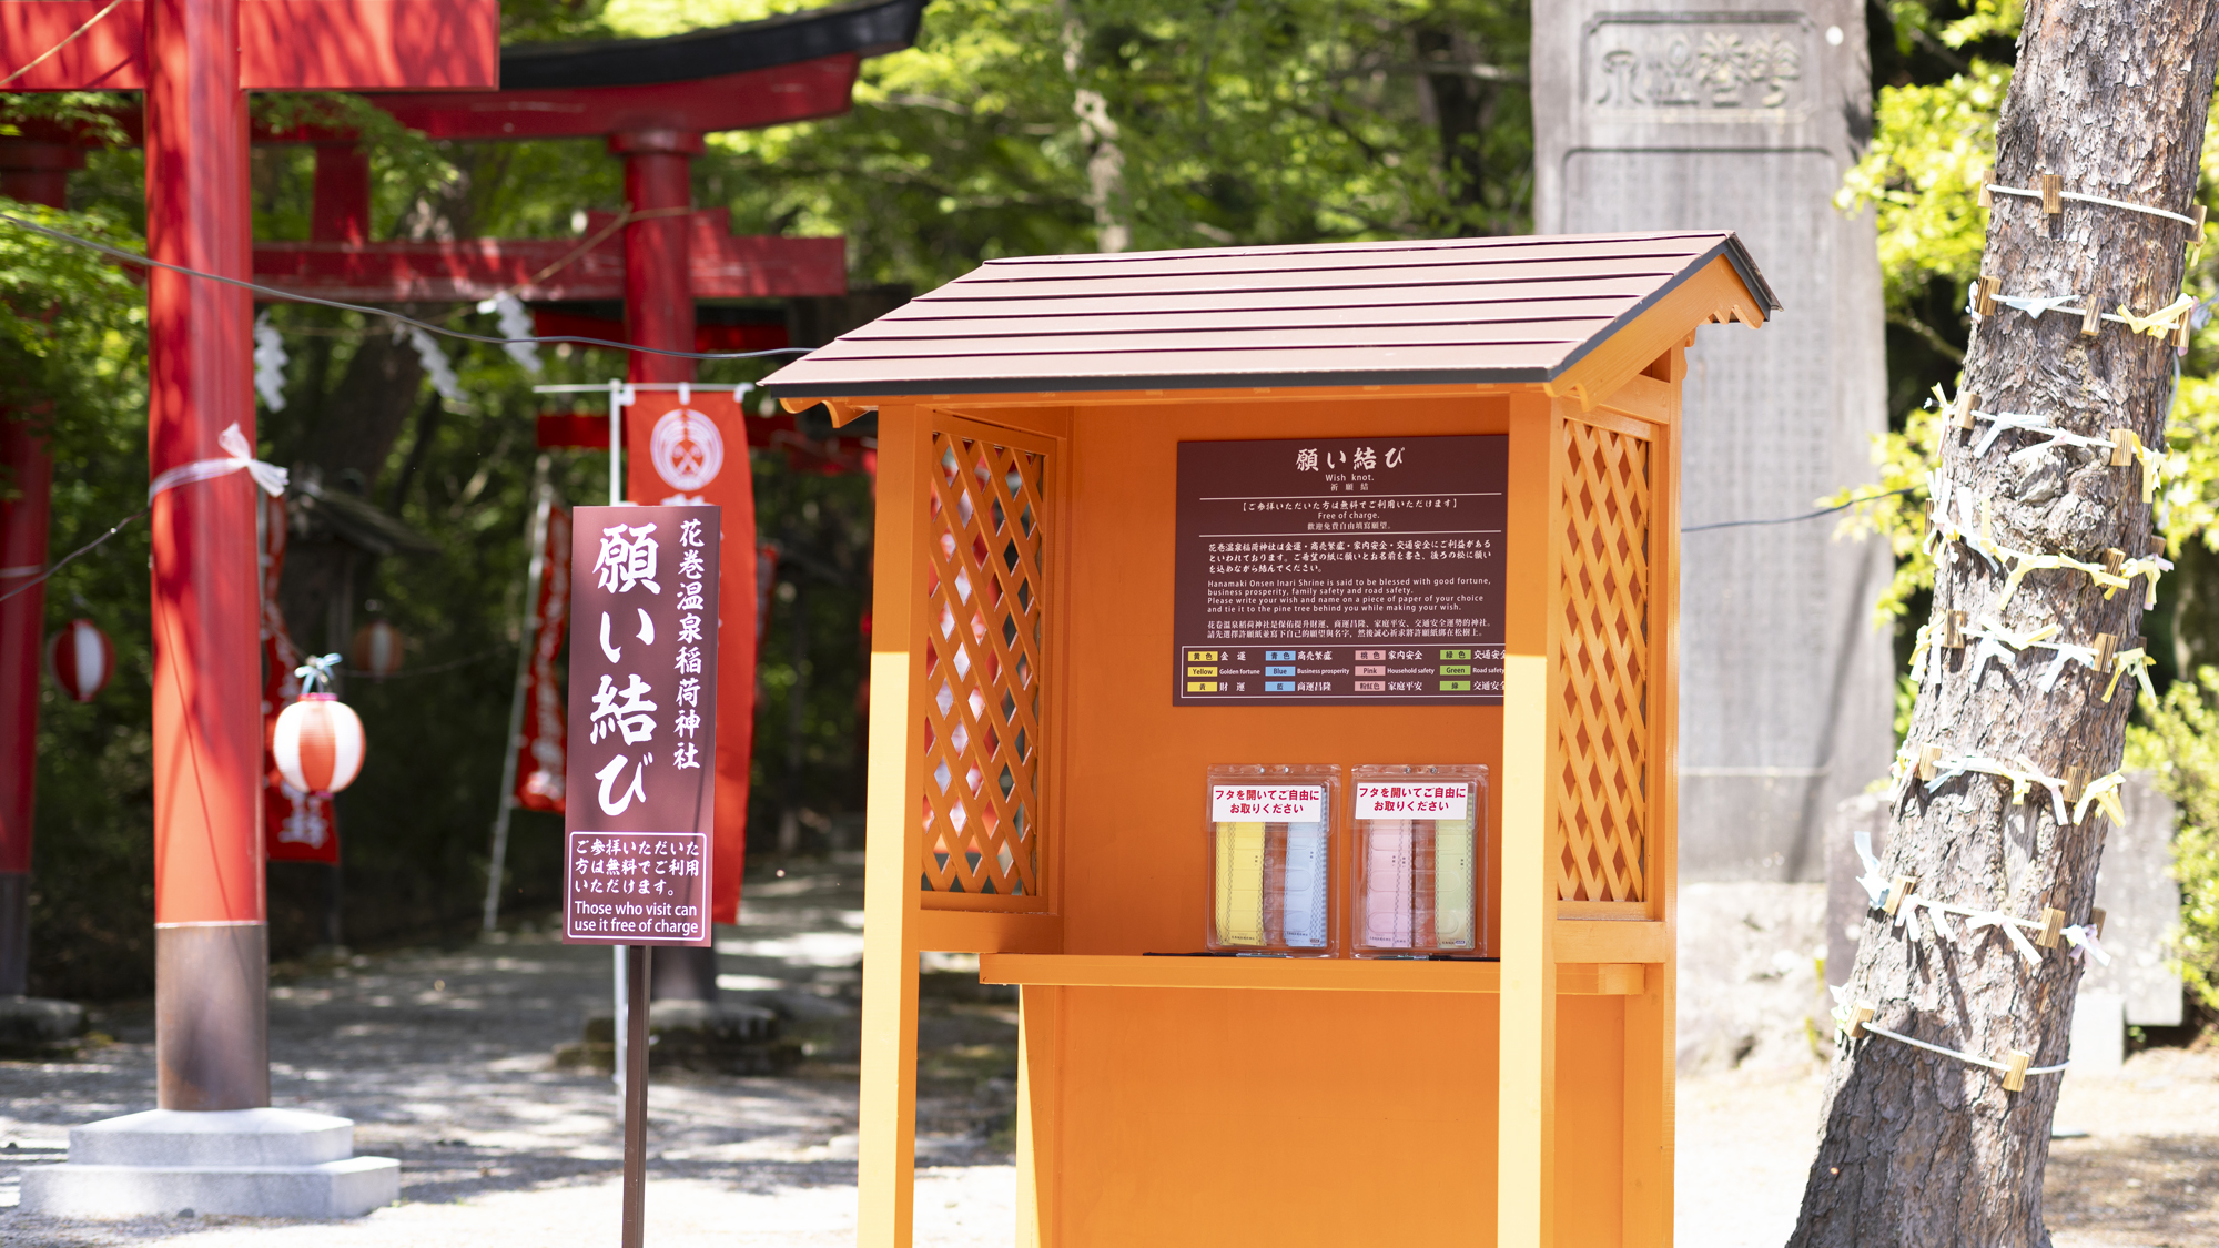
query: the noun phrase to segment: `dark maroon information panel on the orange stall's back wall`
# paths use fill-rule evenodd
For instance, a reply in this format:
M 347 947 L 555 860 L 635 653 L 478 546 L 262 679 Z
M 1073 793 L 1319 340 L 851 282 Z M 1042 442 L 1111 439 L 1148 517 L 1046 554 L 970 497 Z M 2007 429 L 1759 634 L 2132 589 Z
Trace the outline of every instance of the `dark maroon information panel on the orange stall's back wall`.
M 1502 704 L 1509 437 L 1178 444 L 1172 704 Z

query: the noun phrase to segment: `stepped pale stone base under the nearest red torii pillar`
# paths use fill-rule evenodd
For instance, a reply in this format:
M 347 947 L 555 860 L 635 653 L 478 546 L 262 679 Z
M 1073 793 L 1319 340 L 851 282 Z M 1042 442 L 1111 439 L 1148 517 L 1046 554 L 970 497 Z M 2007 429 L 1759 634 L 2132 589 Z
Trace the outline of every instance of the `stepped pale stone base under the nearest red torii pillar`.
M 22 1208 L 58 1217 L 224 1212 L 362 1217 L 402 1164 L 355 1157 L 355 1124 L 306 1110 L 146 1110 L 69 1130 L 69 1161 L 22 1172 Z

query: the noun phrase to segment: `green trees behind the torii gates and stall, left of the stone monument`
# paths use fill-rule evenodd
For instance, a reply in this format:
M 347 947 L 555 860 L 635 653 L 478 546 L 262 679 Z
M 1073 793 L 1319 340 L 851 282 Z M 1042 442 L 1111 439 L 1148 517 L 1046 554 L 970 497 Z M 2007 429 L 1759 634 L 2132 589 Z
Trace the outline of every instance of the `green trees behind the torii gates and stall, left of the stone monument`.
M 668 36 L 763 18 L 788 0 L 506 0 L 506 42 Z M 695 200 L 739 233 L 839 233 L 852 286 L 930 289 L 994 255 L 1516 233 L 1529 224 L 1527 7 L 1518 0 L 939 0 L 919 47 L 863 62 L 839 118 L 712 135 Z M 1087 104 L 1098 100 L 1098 109 Z M 71 175 L 73 233 L 138 246 L 144 160 L 113 113 L 135 95 L 0 95 L 9 127 L 73 127 L 118 147 Z M 373 238 L 577 238 L 624 207 L 599 140 L 430 142 L 362 98 L 253 98 L 260 131 L 357 131 L 371 155 Z M 1081 111 L 1090 111 L 1090 120 Z M 257 147 L 255 238 L 302 240 L 313 149 Z M 13 211 L 13 209 L 11 209 Z M 144 304 L 133 278 L 80 251 L 0 231 L 0 404 L 53 431 L 55 555 L 135 511 L 146 486 Z M 291 355 L 260 455 L 359 493 L 437 544 L 364 555 L 333 611 L 288 620 L 333 648 L 373 615 L 406 637 L 386 682 L 351 677 L 368 759 L 340 799 L 348 942 L 424 939 L 475 924 L 497 802 L 524 588 L 533 422 L 570 400 L 533 382 L 624 375 L 612 351 L 541 353 L 526 375 L 495 346 L 448 342 L 466 404 L 433 402 L 382 322 L 271 304 Z M 490 331 L 470 306 L 413 315 Z M 768 309 L 766 309 L 768 311 Z M 717 362 L 703 382 L 774 364 Z M 44 404 L 44 406 L 38 406 Z M 579 406 L 597 409 L 592 402 Z M 830 437 L 821 417 L 803 433 Z M 870 426 L 841 431 L 845 446 Z M 570 502 L 597 502 L 606 460 L 550 453 Z M 872 484 L 754 455 L 757 522 L 781 546 L 761 644 L 750 842 L 803 851 L 863 804 Z M 4 486 L 0 486 L 4 489 Z M 295 533 L 288 593 L 337 564 Z M 151 982 L 151 742 L 146 535 L 126 529 L 51 582 L 49 626 L 91 615 L 118 673 L 87 706 L 42 693 L 33 984 L 122 995 Z M 559 819 L 519 815 L 508 908 L 553 904 Z M 854 839 L 848 842 L 854 848 Z M 280 955 L 317 939 L 322 882 L 273 870 Z

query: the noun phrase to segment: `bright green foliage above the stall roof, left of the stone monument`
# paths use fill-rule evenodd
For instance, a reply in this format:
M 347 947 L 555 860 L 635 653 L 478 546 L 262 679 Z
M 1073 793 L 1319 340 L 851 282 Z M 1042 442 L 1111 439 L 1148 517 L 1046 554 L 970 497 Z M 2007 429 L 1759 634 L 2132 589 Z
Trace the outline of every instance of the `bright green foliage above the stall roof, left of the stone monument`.
M 644 4 L 608 18 L 663 31 Z M 1074 100 L 1098 91 L 1123 158 L 1103 211 L 1136 249 L 1516 233 L 1524 49 L 1502 0 L 943 0 L 914 51 L 865 62 L 850 115 L 717 135 L 699 184 L 743 229 L 845 233 L 859 284 L 1094 251 Z M 1511 84 L 1445 76 L 1473 95 L 1442 111 L 1422 64 Z

